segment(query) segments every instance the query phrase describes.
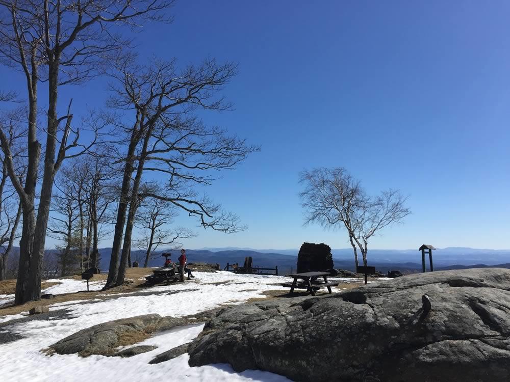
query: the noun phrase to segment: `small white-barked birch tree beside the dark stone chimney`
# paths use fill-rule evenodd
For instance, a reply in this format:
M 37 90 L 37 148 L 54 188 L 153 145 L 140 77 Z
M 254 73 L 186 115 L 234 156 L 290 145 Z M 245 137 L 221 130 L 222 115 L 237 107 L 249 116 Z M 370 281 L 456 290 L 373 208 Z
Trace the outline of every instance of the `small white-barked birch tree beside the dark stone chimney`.
M 358 267 L 358 249 L 367 265 L 368 240 L 383 228 L 399 223 L 411 211 L 406 198 L 389 189 L 370 197 L 360 182 L 344 168 L 320 168 L 303 171 L 300 182 L 305 189 L 299 194 L 304 208 L 305 224 L 319 223 L 324 228 L 342 227 L 349 234 Z

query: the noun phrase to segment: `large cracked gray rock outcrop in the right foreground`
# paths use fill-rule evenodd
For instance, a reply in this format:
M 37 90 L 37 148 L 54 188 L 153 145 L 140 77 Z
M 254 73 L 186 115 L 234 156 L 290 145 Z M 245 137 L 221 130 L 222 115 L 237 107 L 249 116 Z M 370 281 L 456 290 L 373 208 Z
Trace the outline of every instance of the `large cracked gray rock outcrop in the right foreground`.
M 510 270 L 429 272 L 222 309 L 188 353 L 191 366 L 229 363 L 296 381 L 507 381 Z

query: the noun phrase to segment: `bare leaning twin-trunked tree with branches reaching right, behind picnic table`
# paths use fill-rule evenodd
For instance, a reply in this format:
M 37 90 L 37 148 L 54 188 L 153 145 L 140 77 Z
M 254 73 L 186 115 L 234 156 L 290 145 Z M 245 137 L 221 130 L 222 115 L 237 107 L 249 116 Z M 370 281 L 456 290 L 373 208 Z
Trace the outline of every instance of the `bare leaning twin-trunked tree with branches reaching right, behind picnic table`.
M 208 170 L 232 169 L 247 154 L 259 149 L 237 137 L 227 137 L 221 129 L 206 127 L 193 115 L 197 108 L 228 110 L 230 104 L 214 95 L 235 73 L 236 65 L 232 63 L 218 65 L 214 60 L 206 60 L 199 67 L 188 66 L 183 71 L 176 67 L 175 61 L 154 61 L 147 67 L 124 61 L 112 74 L 115 82 L 110 105 L 117 110 L 131 111 L 135 122 L 124 127 L 129 146 L 124 155 L 120 203 L 105 288 L 124 281 L 134 217 L 141 198 L 168 201 L 190 216 L 198 216 L 203 227 L 224 232 L 243 228 L 237 224 L 235 215 L 221 213 L 218 205 L 205 197 L 197 197 L 189 189 L 190 184 L 209 184 L 213 178 Z M 157 172 L 170 178 L 165 195 L 141 191 L 144 172 Z M 199 175 L 200 172 L 206 175 Z

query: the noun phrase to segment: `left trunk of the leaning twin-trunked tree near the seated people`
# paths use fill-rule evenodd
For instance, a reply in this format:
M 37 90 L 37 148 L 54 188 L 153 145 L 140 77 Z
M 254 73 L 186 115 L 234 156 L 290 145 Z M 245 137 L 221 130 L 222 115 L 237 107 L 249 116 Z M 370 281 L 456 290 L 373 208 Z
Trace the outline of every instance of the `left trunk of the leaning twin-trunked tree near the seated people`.
M 126 220 L 127 204 L 129 202 L 129 193 L 131 185 L 131 175 L 133 174 L 133 163 L 135 162 L 135 149 L 138 143 L 136 133 L 133 133 L 129 148 L 127 149 L 126 163 L 124 166 L 124 175 L 122 177 L 122 188 L 120 190 L 120 201 L 117 210 L 117 222 L 115 223 L 115 233 L 113 236 L 112 255 L 110 257 L 110 268 L 108 271 L 108 279 L 104 289 L 111 288 L 117 281 L 119 270 L 119 252 L 122 242 L 122 233 Z

